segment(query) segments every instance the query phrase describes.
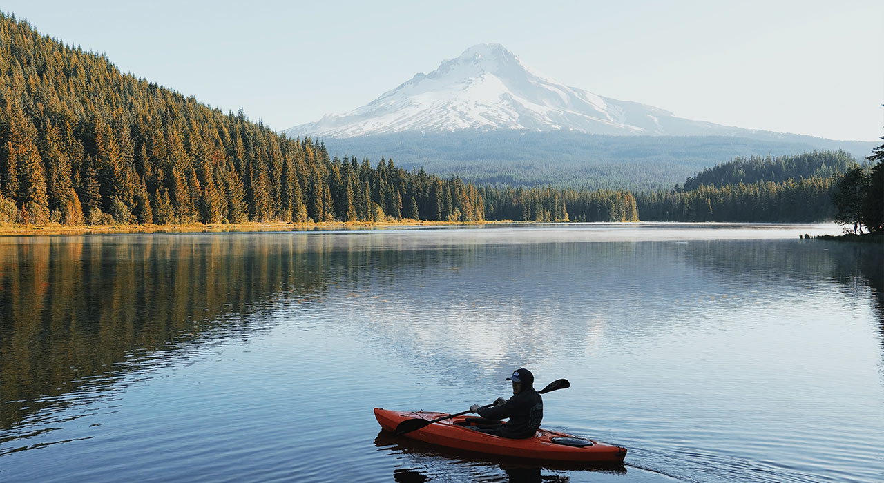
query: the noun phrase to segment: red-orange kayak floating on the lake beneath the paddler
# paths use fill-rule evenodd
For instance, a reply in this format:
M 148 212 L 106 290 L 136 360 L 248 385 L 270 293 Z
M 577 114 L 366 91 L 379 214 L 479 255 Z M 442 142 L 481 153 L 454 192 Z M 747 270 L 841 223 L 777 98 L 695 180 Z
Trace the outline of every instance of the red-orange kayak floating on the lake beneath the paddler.
M 394 432 L 396 426 L 407 419 L 438 419 L 445 412 L 430 411 L 389 411 L 375 408 L 377 422 L 385 431 Z M 622 464 L 626 448 L 603 442 L 577 438 L 571 434 L 538 429 L 533 438 L 511 440 L 492 434 L 476 431 L 468 416 L 456 416 L 411 431 L 405 436 L 415 440 L 465 449 L 479 453 L 489 453 L 504 457 L 522 457 L 536 460 Z

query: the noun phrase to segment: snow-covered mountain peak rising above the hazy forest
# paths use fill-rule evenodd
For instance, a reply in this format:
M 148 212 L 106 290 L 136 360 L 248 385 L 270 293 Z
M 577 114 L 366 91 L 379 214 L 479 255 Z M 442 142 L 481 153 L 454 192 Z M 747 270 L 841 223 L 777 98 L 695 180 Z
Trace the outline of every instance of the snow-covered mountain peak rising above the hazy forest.
M 691 121 L 664 109 L 618 101 L 545 77 L 497 43 L 479 44 L 418 73 L 375 101 L 289 137 L 350 138 L 392 132 L 571 131 L 593 134 L 732 135 L 745 130 Z

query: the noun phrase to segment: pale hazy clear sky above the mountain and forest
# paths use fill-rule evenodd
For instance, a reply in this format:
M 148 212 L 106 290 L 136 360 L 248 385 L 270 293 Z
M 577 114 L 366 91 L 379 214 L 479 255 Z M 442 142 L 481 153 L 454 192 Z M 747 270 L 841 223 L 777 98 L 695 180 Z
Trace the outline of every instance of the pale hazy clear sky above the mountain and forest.
M 476 43 L 568 86 L 723 125 L 884 134 L 884 2 L 4 0 L 123 72 L 282 130 L 355 109 Z

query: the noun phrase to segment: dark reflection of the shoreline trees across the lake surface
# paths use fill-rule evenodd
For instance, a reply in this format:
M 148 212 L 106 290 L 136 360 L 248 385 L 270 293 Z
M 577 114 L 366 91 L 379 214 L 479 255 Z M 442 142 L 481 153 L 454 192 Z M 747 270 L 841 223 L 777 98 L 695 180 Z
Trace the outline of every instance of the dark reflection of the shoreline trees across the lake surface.
M 217 233 L 0 239 L 0 427 L 69 404 L 60 396 L 84 385 L 110 387 L 121 374 L 176 347 L 235 330 L 262 307 L 321 298 L 332 285 L 355 291 L 376 279 L 380 287 L 398 286 L 406 268 L 432 274 L 448 263 L 485 263 L 482 270 L 490 275 L 512 275 L 495 272 L 506 264 L 490 264 L 481 240 L 446 239 L 449 245 L 435 245 L 439 254 L 431 261 L 421 253 L 430 241 L 418 234 L 358 238 Z M 593 269 L 613 267 L 608 260 L 636 250 L 656 253 L 662 245 L 654 243 L 594 244 Z M 857 298 L 871 293 L 884 358 L 880 245 L 795 240 L 777 250 L 753 241 L 682 246 L 676 258 L 697 273 L 743 278 L 759 290 L 766 280 L 789 277 L 800 290 L 812 275 L 834 279 Z M 513 258 L 537 253 L 539 260 L 586 255 L 579 243 L 513 245 L 511 252 Z

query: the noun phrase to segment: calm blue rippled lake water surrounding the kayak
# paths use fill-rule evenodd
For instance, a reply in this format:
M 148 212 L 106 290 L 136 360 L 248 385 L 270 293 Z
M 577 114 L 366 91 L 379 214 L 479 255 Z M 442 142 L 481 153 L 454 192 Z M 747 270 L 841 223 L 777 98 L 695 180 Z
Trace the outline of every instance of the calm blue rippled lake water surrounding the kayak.
M 829 225 L 0 238 L 3 481 L 880 481 L 884 254 Z M 529 367 L 538 467 L 380 433 Z

